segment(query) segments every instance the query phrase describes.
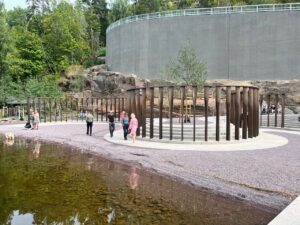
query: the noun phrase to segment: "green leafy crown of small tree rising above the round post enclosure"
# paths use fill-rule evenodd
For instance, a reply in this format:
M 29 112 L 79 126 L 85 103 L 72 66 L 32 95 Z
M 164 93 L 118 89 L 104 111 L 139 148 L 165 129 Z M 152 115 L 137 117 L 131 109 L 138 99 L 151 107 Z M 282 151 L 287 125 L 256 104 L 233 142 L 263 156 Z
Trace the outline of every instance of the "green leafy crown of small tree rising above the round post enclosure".
M 176 60 L 165 66 L 163 76 L 185 85 L 203 87 L 207 71 L 205 64 L 197 59 L 195 49 L 188 45 L 179 50 Z

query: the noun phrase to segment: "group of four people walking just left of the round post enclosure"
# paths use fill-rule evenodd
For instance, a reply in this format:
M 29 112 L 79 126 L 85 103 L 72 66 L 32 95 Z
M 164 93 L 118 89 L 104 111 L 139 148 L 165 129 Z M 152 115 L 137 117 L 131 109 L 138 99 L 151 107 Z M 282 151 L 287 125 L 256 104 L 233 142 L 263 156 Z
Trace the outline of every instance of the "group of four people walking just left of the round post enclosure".
M 114 131 L 115 131 L 115 121 L 116 121 L 116 117 L 115 117 L 113 111 L 109 112 L 107 118 L 108 118 L 108 124 L 109 124 L 110 137 L 113 137 Z M 86 134 L 90 135 L 90 136 L 92 136 L 93 121 L 94 121 L 93 115 L 89 111 L 87 111 L 87 113 L 86 113 L 86 125 L 87 125 Z M 123 127 L 124 140 L 127 140 L 127 136 L 128 136 L 128 134 L 130 134 L 132 137 L 132 142 L 135 143 L 136 131 L 138 129 L 138 120 L 135 117 L 135 114 L 131 113 L 130 119 L 129 119 L 128 113 L 125 111 L 122 111 L 120 113 L 120 122 Z

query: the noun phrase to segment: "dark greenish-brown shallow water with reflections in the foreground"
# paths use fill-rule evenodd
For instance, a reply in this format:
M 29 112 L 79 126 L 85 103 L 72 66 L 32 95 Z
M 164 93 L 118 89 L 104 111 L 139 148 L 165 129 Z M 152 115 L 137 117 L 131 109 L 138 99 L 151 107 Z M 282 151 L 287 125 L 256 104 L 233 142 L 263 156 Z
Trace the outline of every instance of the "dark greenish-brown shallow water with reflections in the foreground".
M 0 140 L 0 224 L 267 224 L 240 201 L 80 150 Z

